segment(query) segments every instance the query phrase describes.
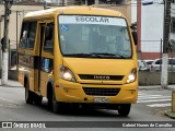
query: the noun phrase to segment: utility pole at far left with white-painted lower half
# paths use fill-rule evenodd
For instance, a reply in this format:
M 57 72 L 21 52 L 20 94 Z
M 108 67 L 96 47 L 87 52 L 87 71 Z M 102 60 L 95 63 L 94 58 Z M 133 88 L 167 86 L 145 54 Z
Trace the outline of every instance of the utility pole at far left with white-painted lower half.
M 13 0 L 3 0 L 4 1 L 4 29 L 2 43 L 2 81 L 1 85 L 8 84 L 8 69 L 9 69 L 9 14 L 11 13 L 11 5 Z

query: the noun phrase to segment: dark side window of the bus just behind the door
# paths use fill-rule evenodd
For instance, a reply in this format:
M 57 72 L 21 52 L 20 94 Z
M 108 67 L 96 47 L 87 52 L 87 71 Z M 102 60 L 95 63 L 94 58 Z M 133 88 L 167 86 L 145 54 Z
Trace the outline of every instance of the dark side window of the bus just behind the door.
M 35 45 L 35 35 L 36 35 L 36 22 L 30 22 L 28 37 L 26 48 L 33 49 Z

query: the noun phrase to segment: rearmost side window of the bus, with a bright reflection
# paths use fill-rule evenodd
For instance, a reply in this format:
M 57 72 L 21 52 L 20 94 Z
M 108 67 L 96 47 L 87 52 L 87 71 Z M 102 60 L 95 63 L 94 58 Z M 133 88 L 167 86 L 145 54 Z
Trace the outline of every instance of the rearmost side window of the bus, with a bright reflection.
M 28 34 L 28 23 L 24 22 L 22 25 L 22 32 L 21 32 L 21 40 L 20 40 L 20 48 L 25 48 L 27 44 L 27 34 Z

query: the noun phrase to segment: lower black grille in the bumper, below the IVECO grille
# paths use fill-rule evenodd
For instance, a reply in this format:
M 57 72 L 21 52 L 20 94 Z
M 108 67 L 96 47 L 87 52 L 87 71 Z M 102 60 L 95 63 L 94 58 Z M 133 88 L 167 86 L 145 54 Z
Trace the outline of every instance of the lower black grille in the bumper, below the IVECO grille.
M 120 88 L 104 88 L 104 87 L 83 87 L 86 95 L 93 96 L 116 96 Z

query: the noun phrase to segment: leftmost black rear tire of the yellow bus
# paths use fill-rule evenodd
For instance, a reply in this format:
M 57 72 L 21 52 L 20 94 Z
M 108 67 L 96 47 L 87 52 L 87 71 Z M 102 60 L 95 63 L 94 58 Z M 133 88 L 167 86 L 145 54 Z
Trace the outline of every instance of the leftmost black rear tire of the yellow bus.
M 33 94 L 33 92 L 30 91 L 28 81 L 25 82 L 24 86 L 25 86 L 25 103 L 26 104 L 33 104 L 34 94 Z

